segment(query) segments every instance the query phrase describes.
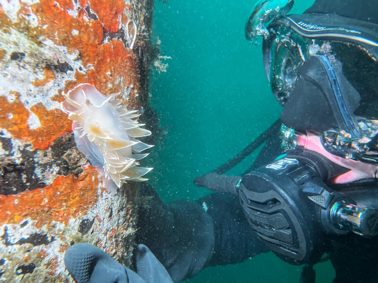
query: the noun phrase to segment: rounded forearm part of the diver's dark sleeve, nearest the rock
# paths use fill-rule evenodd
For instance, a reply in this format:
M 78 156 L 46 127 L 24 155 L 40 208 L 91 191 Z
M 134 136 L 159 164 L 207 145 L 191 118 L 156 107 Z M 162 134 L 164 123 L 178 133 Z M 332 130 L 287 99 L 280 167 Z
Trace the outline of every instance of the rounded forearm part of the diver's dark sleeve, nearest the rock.
M 193 277 L 212 257 L 214 226 L 202 205 L 188 200 L 165 204 L 147 183 L 139 193 L 136 243 L 149 247 L 174 282 Z

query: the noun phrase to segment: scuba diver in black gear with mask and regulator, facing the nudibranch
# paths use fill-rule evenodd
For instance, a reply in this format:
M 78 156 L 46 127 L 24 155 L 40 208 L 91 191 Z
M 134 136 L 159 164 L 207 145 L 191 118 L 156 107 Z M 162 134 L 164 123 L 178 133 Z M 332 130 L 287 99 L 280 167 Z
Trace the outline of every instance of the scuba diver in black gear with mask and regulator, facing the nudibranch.
M 283 106 L 254 143 L 267 139 L 253 166 L 223 175 L 244 152 L 197 177 L 216 192 L 195 202 L 165 204 L 143 183 L 150 202 L 138 213 L 136 272 L 76 244 L 64 260 L 77 282 L 179 282 L 267 251 L 304 265 L 302 283 L 315 282 L 313 266 L 328 259 L 333 283 L 377 281 L 378 2 L 316 0 L 287 15 L 292 6 L 262 1 L 246 24 L 248 40 L 263 37 L 266 75 Z

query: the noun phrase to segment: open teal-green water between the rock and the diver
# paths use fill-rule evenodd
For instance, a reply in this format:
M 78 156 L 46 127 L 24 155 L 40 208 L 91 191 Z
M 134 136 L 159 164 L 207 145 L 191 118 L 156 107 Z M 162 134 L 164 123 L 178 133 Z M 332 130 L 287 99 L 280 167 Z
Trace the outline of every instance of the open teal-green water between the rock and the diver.
M 314 1 L 296 0 L 290 14 L 302 13 Z M 150 74 L 149 101 L 160 114 L 163 143 L 146 165 L 149 183 L 169 202 L 196 200 L 211 193 L 193 180 L 223 164 L 265 131 L 281 106 L 271 93 L 262 63 L 261 45 L 244 36 L 254 1 L 155 1 L 152 41 L 161 40 L 161 54 L 170 56 L 167 72 Z M 251 166 L 258 151 L 226 174 Z M 335 276 L 329 261 L 318 263 L 316 282 Z M 243 263 L 208 267 L 188 283 L 299 282 L 302 267 L 273 253 Z

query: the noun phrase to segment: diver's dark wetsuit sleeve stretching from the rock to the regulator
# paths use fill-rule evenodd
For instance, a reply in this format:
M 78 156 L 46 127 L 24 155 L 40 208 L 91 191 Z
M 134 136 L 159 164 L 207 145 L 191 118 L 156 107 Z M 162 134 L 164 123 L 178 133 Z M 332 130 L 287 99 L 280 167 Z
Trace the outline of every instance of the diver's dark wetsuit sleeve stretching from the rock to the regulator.
M 238 197 L 214 193 L 164 204 L 152 187 L 138 213 L 136 243 L 146 245 L 174 282 L 206 266 L 237 263 L 267 249 L 249 226 Z

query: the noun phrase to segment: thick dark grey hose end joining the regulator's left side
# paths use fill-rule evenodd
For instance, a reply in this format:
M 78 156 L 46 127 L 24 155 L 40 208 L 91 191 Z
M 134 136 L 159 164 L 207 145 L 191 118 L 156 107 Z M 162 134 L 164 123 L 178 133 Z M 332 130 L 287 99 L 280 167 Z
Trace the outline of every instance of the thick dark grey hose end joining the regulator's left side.
M 194 184 L 198 187 L 206 187 L 210 191 L 225 192 L 228 194 L 239 194 L 239 184 L 242 177 L 219 175 L 209 173 L 194 179 Z

